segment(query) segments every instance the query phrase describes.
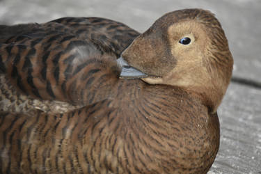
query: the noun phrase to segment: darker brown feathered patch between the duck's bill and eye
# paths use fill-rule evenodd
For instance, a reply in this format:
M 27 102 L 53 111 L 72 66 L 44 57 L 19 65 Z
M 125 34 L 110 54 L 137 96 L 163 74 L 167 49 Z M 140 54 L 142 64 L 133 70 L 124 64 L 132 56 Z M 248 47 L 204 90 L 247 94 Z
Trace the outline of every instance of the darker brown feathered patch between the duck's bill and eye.
M 166 43 L 159 37 L 139 37 L 122 52 L 122 58 L 145 74 L 162 76 L 175 65 L 167 50 Z

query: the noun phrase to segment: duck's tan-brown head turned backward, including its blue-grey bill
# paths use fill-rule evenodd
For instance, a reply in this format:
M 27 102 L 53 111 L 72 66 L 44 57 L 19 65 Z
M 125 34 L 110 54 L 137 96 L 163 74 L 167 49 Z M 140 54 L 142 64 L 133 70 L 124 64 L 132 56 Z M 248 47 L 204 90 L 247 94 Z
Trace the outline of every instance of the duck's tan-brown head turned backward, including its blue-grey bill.
M 123 65 L 122 78 L 184 88 L 200 98 L 211 113 L 221 103 L 232 75 L 228 40 L 219 21 L 207 10 L 167 13 L 139 35 L 122 52 L 122 58 L 118 59 Z

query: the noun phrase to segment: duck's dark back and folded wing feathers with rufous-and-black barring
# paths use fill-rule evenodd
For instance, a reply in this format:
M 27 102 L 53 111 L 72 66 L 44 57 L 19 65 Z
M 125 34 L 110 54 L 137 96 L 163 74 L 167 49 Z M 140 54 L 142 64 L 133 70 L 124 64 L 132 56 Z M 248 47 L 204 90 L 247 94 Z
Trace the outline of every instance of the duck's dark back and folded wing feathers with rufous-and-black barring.
M 85 104 L 70 97 L 82 69 L 103 54 L 116 59 L 139 33 L 109 19 L 65 17 L 1 26 L 0 35 L 1 111 L 63 113 Z

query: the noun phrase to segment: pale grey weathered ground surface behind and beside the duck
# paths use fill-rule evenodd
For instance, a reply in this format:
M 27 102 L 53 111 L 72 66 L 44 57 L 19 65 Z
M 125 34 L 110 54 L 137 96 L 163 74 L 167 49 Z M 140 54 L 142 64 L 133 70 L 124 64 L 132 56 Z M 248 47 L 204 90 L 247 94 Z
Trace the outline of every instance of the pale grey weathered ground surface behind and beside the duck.
M 181 8 L 205 8 L 215 13 L 235 59 L 235 81 L 219 108 L 221 146 L 209 173 L 260 174 L 260 0 L 0 0 L 0 24 L 97 16 L 115 19 L 143 32 L 164 13 Z

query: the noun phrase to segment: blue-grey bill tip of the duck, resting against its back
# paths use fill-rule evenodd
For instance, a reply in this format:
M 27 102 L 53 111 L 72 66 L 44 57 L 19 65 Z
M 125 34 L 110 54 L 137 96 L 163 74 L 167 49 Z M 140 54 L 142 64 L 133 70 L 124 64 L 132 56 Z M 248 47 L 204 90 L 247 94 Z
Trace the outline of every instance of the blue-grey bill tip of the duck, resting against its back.
M 130 66 L 123 58 L 120 56 L 120 58 L 117 59 L 118 65 L 122 68 L 120 73 L 120 78 L 122 79 L 141 79 L 144 77 L 148 77 L 147 74 L 141 72 L 140 70 L 137 70 L 136 68 L 133 68 Z

